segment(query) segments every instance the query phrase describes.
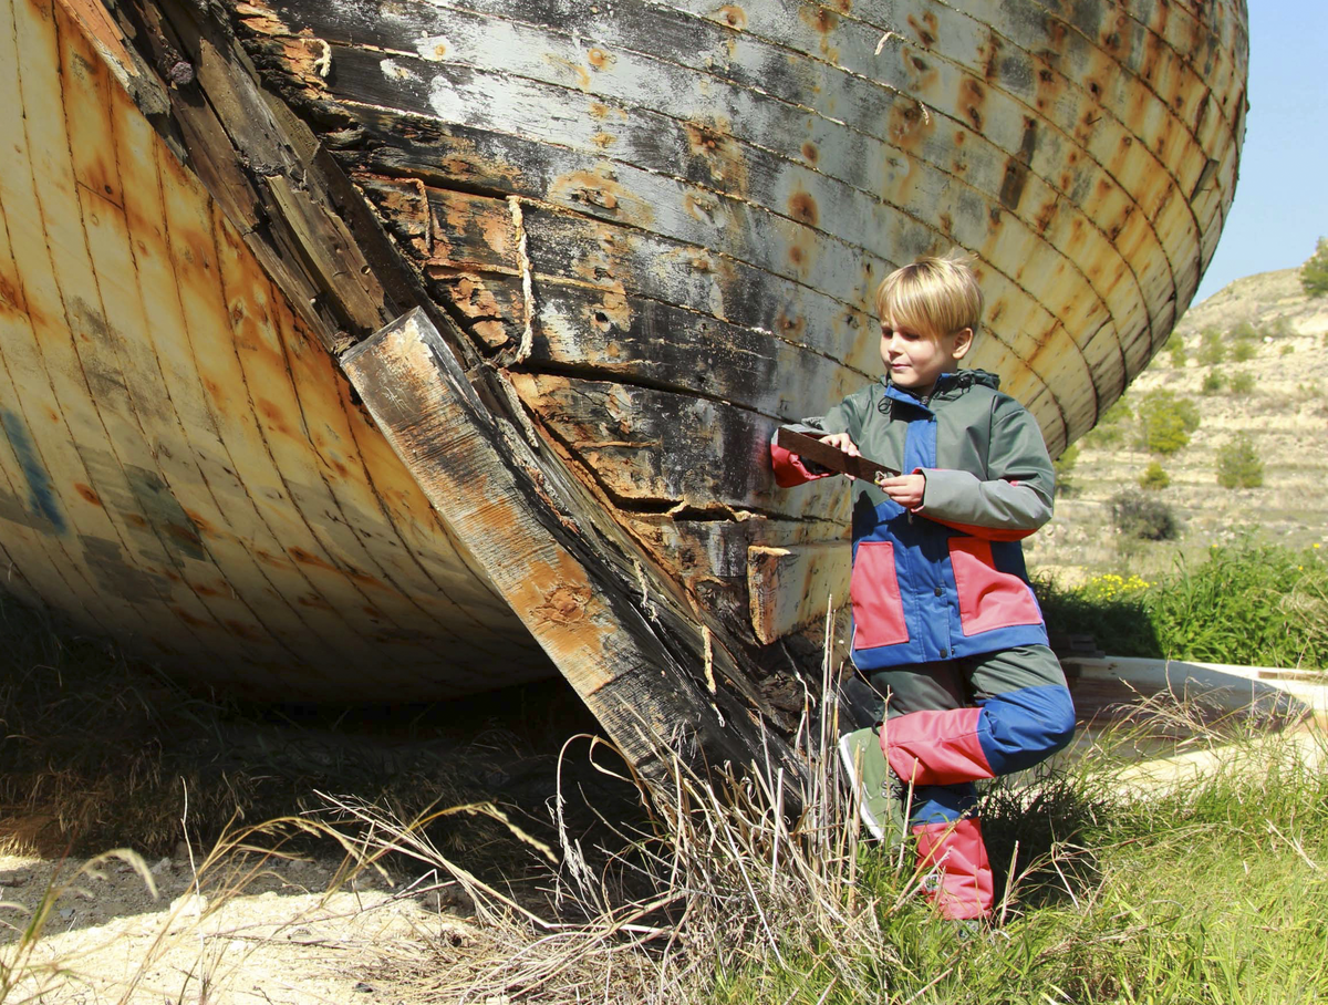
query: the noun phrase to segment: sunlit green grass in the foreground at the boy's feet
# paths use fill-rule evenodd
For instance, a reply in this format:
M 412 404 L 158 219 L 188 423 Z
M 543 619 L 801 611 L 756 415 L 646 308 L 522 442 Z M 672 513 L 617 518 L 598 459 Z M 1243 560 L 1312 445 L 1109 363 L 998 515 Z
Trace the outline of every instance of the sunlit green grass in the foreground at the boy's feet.
M 1109 798 L 1122 762 L 1101 750 L 1032 795 L 997 786 L 984 803 L 997 871 L 1008 871 L 1011 835 L 1021 838 L 1004 925 L 957 937 L 908 896 L 907 867 L 863 850 L 859 870 L 875 897 L 876 936 L 785 947 L 785 965 L 762 960 L 721 972 L 713 1000 L 1328 998 L 1328 778 L 1300 751 L 1286 739 L 1246 735 L 1228 749 L 1224 770 L 1149 798 Z M 1046 802 L 1029 805 L 1044 793 Z M 999 880 L 1004 886 L 1008 876 Z

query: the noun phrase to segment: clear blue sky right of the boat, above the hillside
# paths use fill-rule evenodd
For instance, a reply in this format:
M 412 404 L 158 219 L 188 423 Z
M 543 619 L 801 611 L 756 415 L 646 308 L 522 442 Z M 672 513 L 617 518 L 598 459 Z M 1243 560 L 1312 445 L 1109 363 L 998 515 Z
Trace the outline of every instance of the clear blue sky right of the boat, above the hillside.
M 1328 238 L 1328 0 L 1247 0 L 1250 116 L 1236 198 L 1199 303 L 1299 266 Z

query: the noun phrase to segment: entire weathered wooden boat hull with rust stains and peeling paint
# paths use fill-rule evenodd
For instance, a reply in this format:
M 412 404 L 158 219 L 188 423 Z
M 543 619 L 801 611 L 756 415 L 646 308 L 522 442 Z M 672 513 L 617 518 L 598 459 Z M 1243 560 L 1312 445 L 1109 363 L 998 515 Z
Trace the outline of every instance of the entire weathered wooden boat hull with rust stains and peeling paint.
M 564 8 L 0 4 L 15 589 L 256 692 L 556 666 L 725 747 L 845 595 L 765 443 L 876 373 L 879 279 L 972 250 L 1056 453 L 1232 198 L 1240 0 Z

